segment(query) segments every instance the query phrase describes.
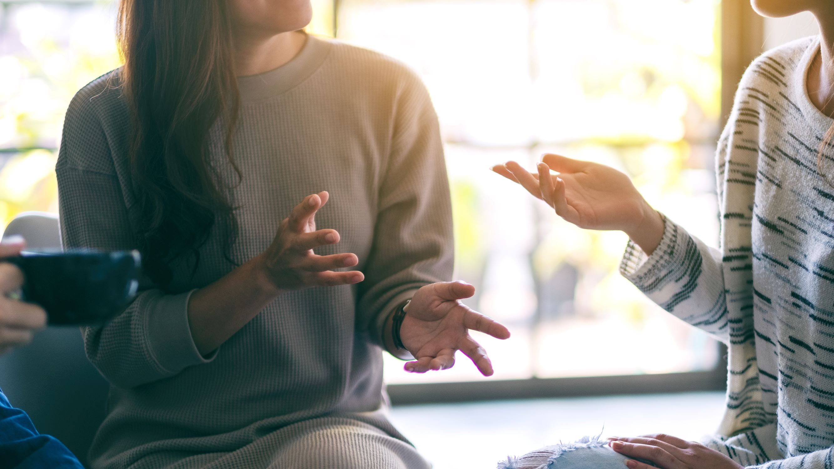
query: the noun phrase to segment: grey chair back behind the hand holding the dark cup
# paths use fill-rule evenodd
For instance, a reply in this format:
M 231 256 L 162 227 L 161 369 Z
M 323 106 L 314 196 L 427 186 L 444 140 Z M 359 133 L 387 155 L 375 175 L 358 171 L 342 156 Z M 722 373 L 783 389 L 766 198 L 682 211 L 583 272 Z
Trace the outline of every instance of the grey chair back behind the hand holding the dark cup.
M 60 249 L 58 217 L 25 212 L 3 237 L 19 235 L 33 249 Z M 86 466 L 105 414 L 108 382 L 88 362 L 78 327 L 48 327 L 26 347 L 0 357 L 0 388 L 28 412 L 39 432 L 58 438 Z

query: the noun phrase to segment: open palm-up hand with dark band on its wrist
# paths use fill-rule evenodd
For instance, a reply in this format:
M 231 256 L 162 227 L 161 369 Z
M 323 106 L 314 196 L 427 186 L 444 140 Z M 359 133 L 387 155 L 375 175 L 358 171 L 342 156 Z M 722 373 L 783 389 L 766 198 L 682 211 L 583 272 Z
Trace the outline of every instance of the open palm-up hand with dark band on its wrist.
M 492 375 L 492 363 L 484 347 L 470 337 L 469 330 L 498 339 L 509 338 L 510 331 L 460 302 L 474 294 L 475 287 L 464 282 L 432 283 L 414 294 L 399 329 L 403 345 L 416 359 L 405 363 L 406 371 L 425 373 L 450 368 L 455 365 L 455 352 L 460 350 L 481 374 Z

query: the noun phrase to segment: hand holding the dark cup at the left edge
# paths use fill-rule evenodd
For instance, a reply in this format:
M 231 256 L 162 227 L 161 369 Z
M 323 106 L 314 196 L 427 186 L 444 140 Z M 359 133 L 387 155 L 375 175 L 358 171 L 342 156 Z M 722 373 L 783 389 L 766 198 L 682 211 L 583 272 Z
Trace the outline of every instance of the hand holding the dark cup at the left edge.
M 0 244 L 0 258 L 17 256 L 23 241 Z M 0 355 L 12 347 L 32 342 L 35 331 L 46 326 L 43 308 L 18 300 L 23 272 L 8 262 L 0 262 Z

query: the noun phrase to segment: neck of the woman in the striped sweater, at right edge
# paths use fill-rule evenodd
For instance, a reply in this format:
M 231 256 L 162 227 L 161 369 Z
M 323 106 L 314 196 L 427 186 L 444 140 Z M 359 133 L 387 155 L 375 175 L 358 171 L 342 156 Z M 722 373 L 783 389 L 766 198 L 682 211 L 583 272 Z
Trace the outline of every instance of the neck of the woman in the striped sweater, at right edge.
M 820 27 L 820 53 L 808 69 L 808 97 L 828 117 L 834 117 L 834 12 L 814 12 Z

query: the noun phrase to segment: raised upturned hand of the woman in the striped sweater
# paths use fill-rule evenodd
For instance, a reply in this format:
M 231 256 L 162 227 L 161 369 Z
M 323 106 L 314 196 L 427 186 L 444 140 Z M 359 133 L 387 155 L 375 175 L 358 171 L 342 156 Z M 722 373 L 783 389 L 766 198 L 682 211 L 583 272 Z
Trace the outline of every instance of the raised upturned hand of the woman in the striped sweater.
M 660 213 L 651 208 L 628 176 L 612 167 L 547 154 L 535 173 L 517 162 L 496 165 L 492 170 L 518 182 L 577 227 L 623 231 L 647 254 L 661 242 L 664 222 Z M 552 175 L 550 170 L 558 174 Z

